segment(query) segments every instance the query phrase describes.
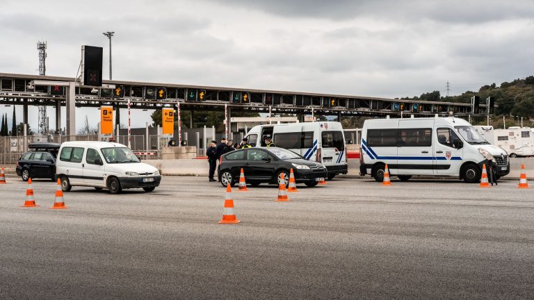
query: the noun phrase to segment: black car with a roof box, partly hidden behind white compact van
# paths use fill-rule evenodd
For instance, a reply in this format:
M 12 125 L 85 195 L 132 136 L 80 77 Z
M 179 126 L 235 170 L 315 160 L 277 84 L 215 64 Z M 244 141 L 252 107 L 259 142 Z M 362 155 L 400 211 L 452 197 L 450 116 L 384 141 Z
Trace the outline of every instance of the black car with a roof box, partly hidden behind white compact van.
M 28 178 L 50 178 L 56 180 L 56 158 L 60 144 L 31 143 L 29 149 L 33 151 L 24 153 L 17 162 L 17 175 L 23 181 Z

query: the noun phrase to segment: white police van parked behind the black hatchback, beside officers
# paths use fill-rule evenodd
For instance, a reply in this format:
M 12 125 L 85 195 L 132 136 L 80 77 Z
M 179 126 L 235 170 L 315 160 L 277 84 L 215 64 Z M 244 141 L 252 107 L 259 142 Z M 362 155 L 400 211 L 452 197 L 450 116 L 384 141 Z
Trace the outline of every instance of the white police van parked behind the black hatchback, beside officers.
M 258 125 L 250 129 L 245 138 L 252 147 L 266 147 L 265 139 L 272 138 L 276 147 L 322 163 L 328 179 L 348 172 L 345 137 L 339 122 Z

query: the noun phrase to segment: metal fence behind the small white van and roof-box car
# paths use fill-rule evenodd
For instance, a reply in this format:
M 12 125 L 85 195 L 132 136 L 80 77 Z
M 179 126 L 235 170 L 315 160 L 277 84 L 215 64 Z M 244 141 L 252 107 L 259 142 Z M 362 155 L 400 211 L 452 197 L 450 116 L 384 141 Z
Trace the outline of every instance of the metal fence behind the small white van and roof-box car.
M 72 141 L 97 141 L 98 135 L 48 135 L 48 136 L 10 136 L 0 137 L 0 167 L 15 167 L 17 161 L 28 150 L 28 144 L 33 142 L 52 142 L 61 144 Z M 145 135 L 131 135 L 131 150 L 141 159 L 158 159 L 162 139 L 159 135 L 149 135 L 148 145 Z M 116 142 L 128 145 L 128 136 L 119 136 Z

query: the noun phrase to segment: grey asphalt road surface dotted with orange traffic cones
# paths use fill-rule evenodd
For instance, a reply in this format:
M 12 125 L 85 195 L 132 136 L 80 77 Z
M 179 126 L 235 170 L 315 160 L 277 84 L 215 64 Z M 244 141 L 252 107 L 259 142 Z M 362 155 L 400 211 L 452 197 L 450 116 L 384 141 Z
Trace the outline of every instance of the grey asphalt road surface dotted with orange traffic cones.
M 233 192 L 165 177 L 152 193 L 0 185 L 0 299 L 532 299 L 534 189 L 516 181 L 343 178 Z M 532 183 L 531 183 L 532 185 Z

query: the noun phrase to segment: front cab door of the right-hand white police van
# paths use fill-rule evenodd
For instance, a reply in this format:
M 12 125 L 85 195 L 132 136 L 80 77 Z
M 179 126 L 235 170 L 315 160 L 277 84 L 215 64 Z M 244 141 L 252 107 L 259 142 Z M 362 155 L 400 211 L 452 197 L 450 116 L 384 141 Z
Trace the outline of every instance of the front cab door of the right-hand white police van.
M 458 175 L 462 165 L 463 148 L 457 149 L 461 141 L 453 128 L 438 127 L 434 135 L 435 171 L 438 175 Z

